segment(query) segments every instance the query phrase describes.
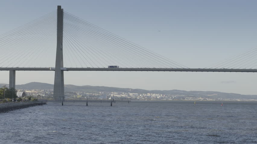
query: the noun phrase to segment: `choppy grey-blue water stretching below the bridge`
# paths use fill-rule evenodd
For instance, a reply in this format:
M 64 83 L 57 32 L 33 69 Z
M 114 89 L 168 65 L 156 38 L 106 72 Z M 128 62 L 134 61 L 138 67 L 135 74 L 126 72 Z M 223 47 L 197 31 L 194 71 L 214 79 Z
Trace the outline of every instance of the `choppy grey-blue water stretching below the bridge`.
M 257 143 L 257 102 L 49 103 L 0 113 L 0 143 Z

